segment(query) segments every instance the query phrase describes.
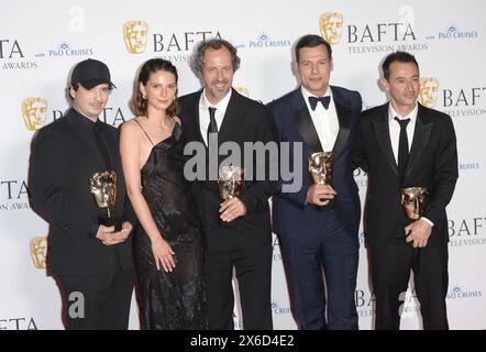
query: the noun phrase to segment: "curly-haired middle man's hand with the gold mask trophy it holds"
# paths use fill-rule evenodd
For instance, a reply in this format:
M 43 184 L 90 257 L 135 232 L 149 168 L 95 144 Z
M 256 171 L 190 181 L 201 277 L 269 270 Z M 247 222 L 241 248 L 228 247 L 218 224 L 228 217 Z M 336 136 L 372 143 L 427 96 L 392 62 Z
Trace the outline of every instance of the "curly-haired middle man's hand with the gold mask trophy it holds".
M 220 206 L 220 219 L 224 222 L 246 215 L 246 206 L 239 198 L 241 196 L 245 169 L 238 166 L 221 166 L 219 169 L 218 186 L 223 202 Z

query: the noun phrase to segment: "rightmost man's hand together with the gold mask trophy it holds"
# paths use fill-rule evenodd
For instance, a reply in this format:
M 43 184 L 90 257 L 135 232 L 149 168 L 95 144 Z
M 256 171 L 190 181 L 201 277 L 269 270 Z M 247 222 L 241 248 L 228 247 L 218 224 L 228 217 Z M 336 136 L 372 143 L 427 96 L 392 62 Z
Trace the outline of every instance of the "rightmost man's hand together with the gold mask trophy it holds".
M 413 248 L 427 245 L 432 227 L 420 218 L 429 207 L 429 193 L 427 187 L 406 187 L 400 190 L 401 206 L 408 219 L 415 220 L 405 228 L 406 241 L 411 242 Z

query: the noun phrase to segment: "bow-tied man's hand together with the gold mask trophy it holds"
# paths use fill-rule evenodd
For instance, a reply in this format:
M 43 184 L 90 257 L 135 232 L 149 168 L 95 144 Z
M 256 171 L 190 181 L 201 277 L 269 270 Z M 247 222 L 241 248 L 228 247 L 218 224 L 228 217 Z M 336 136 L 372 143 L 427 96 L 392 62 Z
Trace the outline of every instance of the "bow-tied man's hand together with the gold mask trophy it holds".
M 306 204 L 324 207 L 338 194 L 331 187 L 334 154 L 332 152 L 317 152 L 308 157 L 308 162 L 309 173 L 314 184 L 307 191 Z

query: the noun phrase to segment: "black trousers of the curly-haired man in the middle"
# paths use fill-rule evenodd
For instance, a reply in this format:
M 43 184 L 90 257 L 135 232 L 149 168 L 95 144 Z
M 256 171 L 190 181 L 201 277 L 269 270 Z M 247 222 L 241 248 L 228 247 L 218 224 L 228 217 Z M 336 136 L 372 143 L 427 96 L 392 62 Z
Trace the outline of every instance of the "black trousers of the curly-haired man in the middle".
M 206 253 L 209 326 L 232 330 L 235 268 L 245 330 L 272 330 L 272 246 Z

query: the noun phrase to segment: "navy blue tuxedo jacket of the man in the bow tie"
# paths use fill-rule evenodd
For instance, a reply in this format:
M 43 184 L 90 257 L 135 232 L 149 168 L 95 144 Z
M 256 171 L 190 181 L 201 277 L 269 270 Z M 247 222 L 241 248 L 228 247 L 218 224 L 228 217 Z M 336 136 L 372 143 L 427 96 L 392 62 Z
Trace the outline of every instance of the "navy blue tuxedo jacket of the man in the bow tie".
M 302 143 L 302 165 L 300 165 L 302 186 L 297 191 L 284 193 L 281 186 L 285 182 L 281 182 L 273 198 L 273 227 L 274 232 L 279 235 L 306 242 L 317 241 L 322 233 L 319 227 L 322 223 L 321 219 L 325 208 L 332 208 L 342 219 L 345 232 L 350 237 L 357 237 L 361 204 L 353 177 L 352 148 L 362 109 L 362 99 L 357 91 L 333 86 L 331 86 L 331 90 L 340 123 L 333 147 L 334 168 L 331 182 L 338 195 L 334 201 L 327 207 L 306 205 L 307 190 L 313 184 L 308 172 L 308 156 L 322 151 L 322 147 L 300 88 L 269 105 L 277 125 L 278 140 L 290 143 L 290 156 L 292 156 L 292 143 Z M 295 167 L 298 166 L 290 157 L 290 169 L 295 169 Z

